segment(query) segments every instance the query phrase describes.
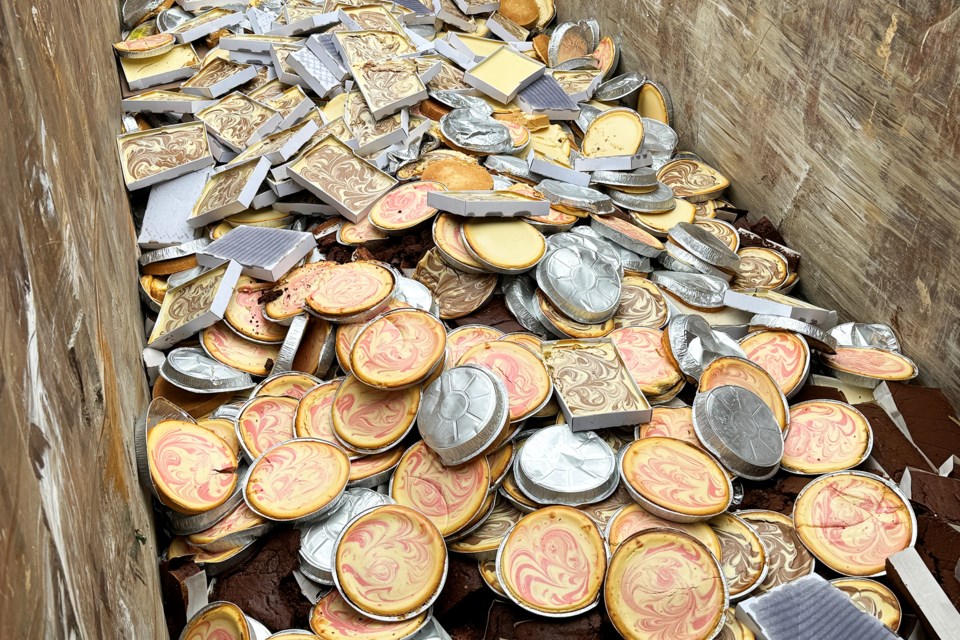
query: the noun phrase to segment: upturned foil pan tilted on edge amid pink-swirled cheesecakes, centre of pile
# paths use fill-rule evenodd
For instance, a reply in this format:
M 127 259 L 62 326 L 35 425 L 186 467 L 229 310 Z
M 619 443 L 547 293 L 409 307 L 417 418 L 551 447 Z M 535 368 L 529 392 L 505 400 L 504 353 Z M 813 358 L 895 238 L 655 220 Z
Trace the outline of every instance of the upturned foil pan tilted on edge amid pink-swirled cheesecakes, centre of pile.
M 423 392 L 417 428 L 445 465 L 468 462 L 493 444 L 509 418 L 507 388 L 475 365 L 445 371 Z

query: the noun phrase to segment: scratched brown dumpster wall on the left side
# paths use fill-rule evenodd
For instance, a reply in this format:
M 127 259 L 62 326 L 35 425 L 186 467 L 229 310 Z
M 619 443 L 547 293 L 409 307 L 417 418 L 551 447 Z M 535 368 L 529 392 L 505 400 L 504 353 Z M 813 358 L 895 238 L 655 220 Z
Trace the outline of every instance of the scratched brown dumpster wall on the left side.
M 78 8 L 79 7 L 79 8 Z M 146 405 L 114 2 L 0 3 L 0 620 L 165 635 L 131 425 Z

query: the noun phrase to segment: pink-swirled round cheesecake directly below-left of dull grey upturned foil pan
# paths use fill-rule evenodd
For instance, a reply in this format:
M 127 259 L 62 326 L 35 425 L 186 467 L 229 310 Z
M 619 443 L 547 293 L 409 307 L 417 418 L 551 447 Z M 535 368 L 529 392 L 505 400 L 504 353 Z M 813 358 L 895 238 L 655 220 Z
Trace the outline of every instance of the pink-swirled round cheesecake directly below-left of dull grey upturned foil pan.
M 620 475 L 640 504 L 672 522 L 705 520 L 730 506 L 730 479 L 710 454 L 672 438 L 642 438 L 621 453 Z

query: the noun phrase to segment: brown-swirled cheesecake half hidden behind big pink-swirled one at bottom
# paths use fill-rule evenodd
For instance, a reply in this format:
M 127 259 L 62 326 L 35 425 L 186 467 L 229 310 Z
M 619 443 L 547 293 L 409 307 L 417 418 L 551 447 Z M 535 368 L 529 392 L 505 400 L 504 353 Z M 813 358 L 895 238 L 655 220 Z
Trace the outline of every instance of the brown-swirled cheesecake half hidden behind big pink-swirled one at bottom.
M 730 597 L 747 595 L 767 576 L 767 551 L 760 534 L 732 513 L 721 513 L 708 524 L 720 541 L 720 567 Z

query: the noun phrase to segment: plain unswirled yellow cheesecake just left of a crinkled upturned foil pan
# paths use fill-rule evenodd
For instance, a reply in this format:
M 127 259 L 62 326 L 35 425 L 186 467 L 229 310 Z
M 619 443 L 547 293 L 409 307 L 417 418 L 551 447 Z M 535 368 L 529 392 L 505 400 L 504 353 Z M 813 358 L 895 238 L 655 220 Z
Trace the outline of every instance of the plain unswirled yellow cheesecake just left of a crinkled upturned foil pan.
M 543 234 L 516 218 L 470 219 L 461 233 L 467 252 L 498 273 L 529 271 L 547 251 Z

